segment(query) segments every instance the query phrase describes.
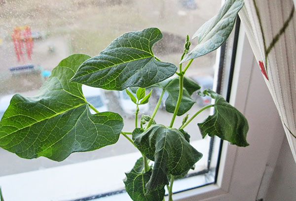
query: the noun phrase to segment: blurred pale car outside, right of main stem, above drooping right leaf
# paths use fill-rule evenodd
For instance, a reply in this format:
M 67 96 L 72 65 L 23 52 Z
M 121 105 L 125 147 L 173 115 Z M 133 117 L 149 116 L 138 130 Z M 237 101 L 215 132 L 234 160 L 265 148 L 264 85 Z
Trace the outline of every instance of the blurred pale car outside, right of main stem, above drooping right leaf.
M 192 80 L 194 80 L 199 86 L 200 91 L 203 92 L 205 89 L 213 89 L 214 79 L 212 76 L 189 76 Z M 192 98 L 197 102 L 197 104 L 201 107 L 206 106 L 211 103 L 212 98 L 209 96 L 199 96 L 197 92 L 194 92 Z

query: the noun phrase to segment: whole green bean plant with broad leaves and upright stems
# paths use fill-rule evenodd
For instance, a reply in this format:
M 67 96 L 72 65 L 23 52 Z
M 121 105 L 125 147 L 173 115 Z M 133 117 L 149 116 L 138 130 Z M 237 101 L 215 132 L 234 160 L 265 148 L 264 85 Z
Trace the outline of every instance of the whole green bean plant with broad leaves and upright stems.
M 39 95 L 13 96 L 0 121 L 0 147 L 26 159 L 43 156 L 63 161 L 73 152 L 114 144 L 121 134 L 142 153 L 124 179 L 130 198 L 163 201 L 167 187 L 168 200 L 173 201 L 174 179 L 185 176 L 202 158 L 202 153 L 190 145 L 186 126 L 203 110 L 214 107 L 214 113 L 197 125 L 203 138 L 216 135 L 237 146 L 248 145 L 246 118 L 221 95 L 211 89 L 200 91 L 200 86 L 185 76 L 195 58 L 224 43 L 243 4 L 243 0 L 226 0 L 220 12 L 193 35 L 198 44 L 191 51 L 187 35 L 179 69 L 153 54 L 152 46 L 162 38 L 157 28 L 124 33 L 95 57 L 74 54 L 62 60 Z M 100 112 L 87 102 L 82 84 L 125 90 L 135 103 L 135 129 L 122 131 L 123 119 L 119 114 Z M 151 91 L 146 94 L 146 89 L 152 87 L 160 88 L 161 96 L 153 113 L 142 115 L 138 122 L 139 105 L 148 103 Z M 195 103 L 191 95 L 196 91 L 213 101 L 188 118 L 185 114 Z M 169 125 L 154 120 L 165 92 L 166 111 L 172 113 Z M 96 113 L 92 114 L 90 109 Z M 174 124 L 176 116 L 182 115 L 182 125 Z

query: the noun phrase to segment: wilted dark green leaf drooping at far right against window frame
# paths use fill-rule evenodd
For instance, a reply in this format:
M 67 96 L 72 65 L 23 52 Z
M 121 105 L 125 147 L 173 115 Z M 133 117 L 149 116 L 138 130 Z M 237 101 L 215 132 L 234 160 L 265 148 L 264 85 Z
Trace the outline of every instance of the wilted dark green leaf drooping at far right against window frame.
M 244 115 L 216 92 L 207 89 L 204 93 L 215 99 L 215 113 L 198 124 L 202 137 L 204 138 L 207 134 L 211 137 L 217 135 L 237 146 L 248 146 L 246 135 L 249 126 Z

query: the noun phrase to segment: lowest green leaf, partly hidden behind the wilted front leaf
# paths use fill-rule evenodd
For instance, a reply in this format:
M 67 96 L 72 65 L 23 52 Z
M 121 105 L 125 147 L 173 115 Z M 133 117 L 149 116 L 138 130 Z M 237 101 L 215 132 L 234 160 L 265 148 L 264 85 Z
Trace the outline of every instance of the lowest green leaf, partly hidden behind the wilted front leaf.
M 134 168 L 125 173 L 126 178 L 124 180 L 125 189 L 128 195 L 133 201 L 162 201 L 164 197 L 164 188 L 155 191 L 150 191 L 146 194 L 146 184 L 149 181 L 152 170 L 148 172 L 144 171 L 144 160 L 140 158 Z

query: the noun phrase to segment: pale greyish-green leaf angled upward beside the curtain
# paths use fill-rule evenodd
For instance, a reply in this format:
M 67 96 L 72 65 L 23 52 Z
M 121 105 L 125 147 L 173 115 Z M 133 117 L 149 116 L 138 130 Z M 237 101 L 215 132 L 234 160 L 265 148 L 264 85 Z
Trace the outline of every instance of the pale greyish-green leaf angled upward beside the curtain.
M 219 48 L 231 33 L 238 11 L 244 0 L 226 0 L 219 13 L 202 25 L 192 38 L 198 37 L 198 44 L 181 63 L 208 54 Z

